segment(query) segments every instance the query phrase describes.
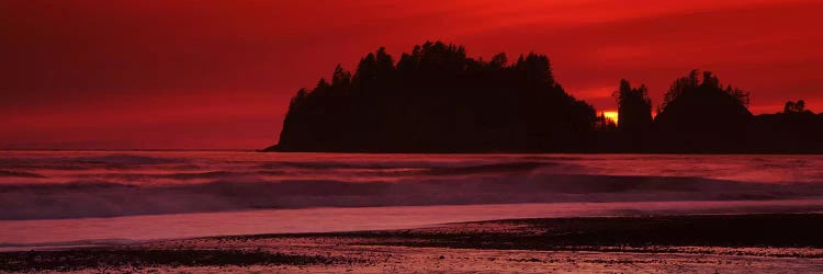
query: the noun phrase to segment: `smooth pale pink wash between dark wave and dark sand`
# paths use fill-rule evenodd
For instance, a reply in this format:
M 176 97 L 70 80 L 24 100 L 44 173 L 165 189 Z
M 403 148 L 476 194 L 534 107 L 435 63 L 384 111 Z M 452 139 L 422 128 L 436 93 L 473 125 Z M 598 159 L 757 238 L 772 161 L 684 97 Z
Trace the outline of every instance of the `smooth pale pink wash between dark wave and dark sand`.
M 227 235 L 404 229 L 546 217 L 823 212 L 823 201 L 551 203 L 307 208 L 0 221 L 0 250 L 132 243 Z

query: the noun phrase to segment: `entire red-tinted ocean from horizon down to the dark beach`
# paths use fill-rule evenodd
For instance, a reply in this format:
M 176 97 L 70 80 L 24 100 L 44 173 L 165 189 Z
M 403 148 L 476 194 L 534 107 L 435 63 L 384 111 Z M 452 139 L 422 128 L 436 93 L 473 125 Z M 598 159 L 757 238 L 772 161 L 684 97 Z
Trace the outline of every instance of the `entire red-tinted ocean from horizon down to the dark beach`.
M 0 151 L 0 250 L 823 210 L 823 156 Z

